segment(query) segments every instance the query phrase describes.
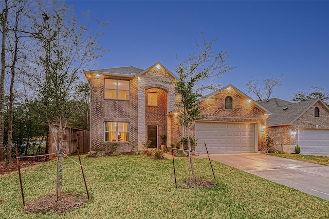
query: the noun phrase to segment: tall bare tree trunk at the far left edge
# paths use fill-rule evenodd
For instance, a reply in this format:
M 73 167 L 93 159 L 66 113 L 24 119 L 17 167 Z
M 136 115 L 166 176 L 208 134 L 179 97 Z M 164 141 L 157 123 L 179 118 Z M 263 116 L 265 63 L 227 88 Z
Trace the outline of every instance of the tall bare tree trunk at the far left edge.
M 0 75 L 0 161 L 4 160 L 4 110 L 5 110 L 5 73 L 6 73 L 6 36 L 7 36 L 8 0 L 2 14 L 2 45 Z

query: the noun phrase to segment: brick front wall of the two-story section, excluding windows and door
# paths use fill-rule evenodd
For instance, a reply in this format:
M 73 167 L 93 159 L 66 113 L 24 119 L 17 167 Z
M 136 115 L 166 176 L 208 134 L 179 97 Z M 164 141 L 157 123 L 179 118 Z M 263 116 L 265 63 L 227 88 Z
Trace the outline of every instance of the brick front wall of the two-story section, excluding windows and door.
M 109 151 L 109 144 L 104 139 L 105 122 L 129 123 L 129 142 L 118 142 L 120 151 L 136 150 L 132 143 L 147 140 L 147 125 L 158 125 L 158 134 L 167 135 L 167 113 L 174 109 L 175 93 L 171 83 L 174 78 L 165 69 L 152 68 L 138 77 L 112 77 L 104 74 L 90 76 L 92 87 L 90 103 L 90 151 Z M 130 98 L 106 99 L 104 97 L 104 79 L 130 81 Z M 147 106 L 147 93 L 158 93 L 158 106 Z M 162 142 L 158 139 L 158 143 Z

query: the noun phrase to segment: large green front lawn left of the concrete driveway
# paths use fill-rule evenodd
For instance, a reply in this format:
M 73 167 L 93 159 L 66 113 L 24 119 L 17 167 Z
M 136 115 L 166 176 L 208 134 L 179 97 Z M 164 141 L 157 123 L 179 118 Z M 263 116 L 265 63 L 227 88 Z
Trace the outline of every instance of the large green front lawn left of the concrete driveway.
M 77 156 L 71 156 L 75 160 Z M 0 218 L 327 218 L 329 202 L 213 162 L 218 186 L 175 189 L 172 161 L 145 155 L 83 158 L 92 199 L 65 213 L 25 213 L 17 173 L 0 176 Z M 188 160 L 175 160 L 179 184 Z M 195 159 L 198 177 L 212 179 L 207 159 Z M 63 192 L 85 193 L 80 167 L 64 160 Z M 55 192 L 56 161 L 22 170 L 25 201 Z

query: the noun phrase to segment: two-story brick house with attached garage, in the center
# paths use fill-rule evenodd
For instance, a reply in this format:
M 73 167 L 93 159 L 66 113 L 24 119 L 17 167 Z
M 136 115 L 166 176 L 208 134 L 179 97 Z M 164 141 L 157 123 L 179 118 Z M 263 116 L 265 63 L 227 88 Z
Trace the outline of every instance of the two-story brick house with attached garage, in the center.
M 161 63 L 143 70 L 120 67 L 85 71 L 91 84 L 90 151 L 109 151 L 109 143 L 119 143 L 119 150 L 140 150 L 151 140 L 159 148 L 160 135 L 167 136 L 167 146 L 184 134 L 177 125 L 174 83 L 178 77 Z M 207 118 L 191 127 L 198 138 L 197 153 L 264 151 L 260 143 L 270 112 L 232 85 L 206 96 L 201 111 Z M 138 148 L 134 148 L 137 143 Z

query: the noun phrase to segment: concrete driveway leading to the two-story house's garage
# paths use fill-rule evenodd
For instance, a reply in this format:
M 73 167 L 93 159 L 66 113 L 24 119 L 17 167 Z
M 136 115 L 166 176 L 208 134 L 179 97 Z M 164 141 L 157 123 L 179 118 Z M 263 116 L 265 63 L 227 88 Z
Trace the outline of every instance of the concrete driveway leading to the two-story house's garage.
M 210 158 L 329 201 L 329 166 L 259 153 L 211 154 Z

